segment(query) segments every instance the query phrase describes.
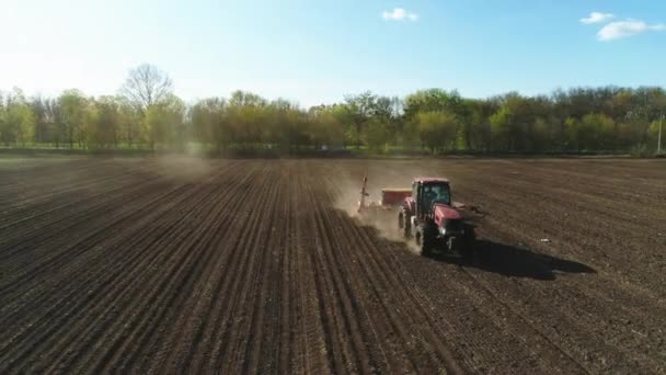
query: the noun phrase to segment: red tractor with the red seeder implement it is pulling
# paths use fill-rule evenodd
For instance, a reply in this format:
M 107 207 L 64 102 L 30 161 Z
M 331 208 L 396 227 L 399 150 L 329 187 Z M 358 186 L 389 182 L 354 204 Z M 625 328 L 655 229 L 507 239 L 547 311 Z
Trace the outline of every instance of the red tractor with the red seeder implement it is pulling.
M 478 213 L 473 206 L 455 203 L 447 179 L 416 178 L 412 189 L 382 189 L 380 203 L 366 203 L 367 178 L 364 179 L 360 214 L 398 212 L 398 230 L 405 239 L 413 238 L 422 255 L 458 254 L 473 258 L 474 226 L 463 213 Z

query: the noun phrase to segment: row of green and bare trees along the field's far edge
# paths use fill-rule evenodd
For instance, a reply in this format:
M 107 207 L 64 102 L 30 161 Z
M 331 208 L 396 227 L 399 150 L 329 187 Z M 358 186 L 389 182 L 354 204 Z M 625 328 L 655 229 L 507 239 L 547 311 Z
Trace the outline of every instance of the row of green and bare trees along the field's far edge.
M 487 99 L 427 89 L 406 98 L 364 92 L 302 109 L 236 91 L 188 105 L 166 73 L 131 70 L 116 95 L 78 90 L 57 98 L 0 92 L 5 147 L 183 151 L 369 149 L 374 152 L 651 152 L 666 91 L 658 87 L 573 88 L 549 95 Z

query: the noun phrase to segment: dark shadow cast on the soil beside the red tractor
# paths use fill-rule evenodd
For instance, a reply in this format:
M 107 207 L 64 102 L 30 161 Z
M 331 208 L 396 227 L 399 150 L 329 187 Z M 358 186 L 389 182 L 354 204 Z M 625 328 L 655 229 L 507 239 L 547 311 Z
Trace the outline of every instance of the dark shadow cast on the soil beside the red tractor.
M 583 263 L 487 239 L 478 240 L 475 247 L 474 261 L 464 265 L 505 276 L 555 280 L 558 274 L 596 273 Z

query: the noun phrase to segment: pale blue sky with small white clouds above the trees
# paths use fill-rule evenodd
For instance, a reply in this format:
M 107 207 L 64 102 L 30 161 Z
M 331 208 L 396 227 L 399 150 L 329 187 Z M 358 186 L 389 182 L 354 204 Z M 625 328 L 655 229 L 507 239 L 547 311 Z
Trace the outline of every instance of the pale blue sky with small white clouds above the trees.
M 115 93 L 140 63 L 169 72 L 187 101 L 236 89 L 314 105 L 365 90 L 484 98 L 666 86 L 663 0 L 2 0 L 0 9 L 0 89 L 27 94 Z

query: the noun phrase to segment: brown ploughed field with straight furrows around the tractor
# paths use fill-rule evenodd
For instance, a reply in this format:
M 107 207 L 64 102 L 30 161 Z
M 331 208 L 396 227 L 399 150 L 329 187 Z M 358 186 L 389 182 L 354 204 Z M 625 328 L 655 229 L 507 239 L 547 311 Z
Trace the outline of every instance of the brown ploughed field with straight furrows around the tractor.
M 475 263 L 349 216 L 366 170 L 451 179 Z M 0 162 L 0 373 L 664 373 L 665 285 L 665 161 Z

